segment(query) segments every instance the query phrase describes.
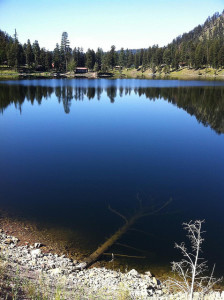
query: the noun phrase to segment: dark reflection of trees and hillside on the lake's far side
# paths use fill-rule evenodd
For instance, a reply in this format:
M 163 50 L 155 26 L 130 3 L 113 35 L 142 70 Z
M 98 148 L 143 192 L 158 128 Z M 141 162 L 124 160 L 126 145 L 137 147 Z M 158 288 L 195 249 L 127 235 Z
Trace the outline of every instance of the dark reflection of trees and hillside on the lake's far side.
M 72 101 L 83 101 L 85 98 L 92 100 L 101 99 L 104 93 L 111 103 L 116 98 L 135 93 L 144 96 L 151 101 L 164 99 L 179 108 L 184 109 L 190 115 L 197 118 L 204 126 L 210 126 L 216 133 L 224 133 L 224 87 L 82 87 L 82 86 L 41 86 L 41 85 L 8 85 L 0 84 L 0 111 L 3 112 L 11 104 L 22 112 L 22 104 L 25 100 L 32 104 L 36 101 L 41 104 L 53 94 L 59 103 L 63 103 L 64 111 L 69 114 Z

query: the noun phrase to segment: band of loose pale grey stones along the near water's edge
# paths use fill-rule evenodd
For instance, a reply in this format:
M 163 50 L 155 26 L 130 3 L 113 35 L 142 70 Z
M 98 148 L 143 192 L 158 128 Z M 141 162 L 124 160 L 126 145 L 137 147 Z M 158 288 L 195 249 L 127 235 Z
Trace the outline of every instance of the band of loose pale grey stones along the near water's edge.
M 169 294 L 166 286 L 152 276 L 150 271 L 139 274 L 135 269 L 127 273 L 106 268 L 83 269 L 85 267 L 83 262 L 72 261 L 65 255 L 42 253 L 39 249 L 42 246 L 41 243 L 35 243 L 33 247 L 28 244 L 17 246 L 17 242 L 18 239 L 8 236 L 0 229 L 1 254 L 3 257 L 7 257 L 7 263 L 14 266 L 15 270 L 18 269 L 18 266 L 21 266 L 27 271 L 43 274 L 51 287 L 54 287 L 55 283 L 61 278 L 64 287 L 68 291 L 74 292 L 80 288 L 83 289 L 85 299 L 89 299 L 88 295 L 91 298 L 98 291 L 105 293 L 105 299 L 117 299 L 121 289 L 130 295 L 130 299 L 136 300 L 186 299 L 186 295 L 183 293 Z M 73 298 L 68 294 L 65 299 L 71 300 Z M 213 292 L 211 298 L 205 297 L 204 299 L 224 300 L 224 292 L 221 294 Z

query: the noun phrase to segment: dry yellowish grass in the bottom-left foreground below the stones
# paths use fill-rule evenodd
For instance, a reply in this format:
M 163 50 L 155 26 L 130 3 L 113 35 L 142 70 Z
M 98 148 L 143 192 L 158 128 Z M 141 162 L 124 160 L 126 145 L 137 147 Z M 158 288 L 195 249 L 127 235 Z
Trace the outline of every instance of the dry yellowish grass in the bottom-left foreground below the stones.
M 116 293 L 108 293 L 106 289 L 89 291 L 83 286 L 74 286 L 68 290 L 65 279 L 59 278 L 52 286 L 49 278 L 40 275 L 39 280 L 30 280 L 20 277 L 19 269 L 9 275 L 7 258 L 0 256 L 0 299 L 4 300 L 130 300 L 128 289 L 120 285 Z

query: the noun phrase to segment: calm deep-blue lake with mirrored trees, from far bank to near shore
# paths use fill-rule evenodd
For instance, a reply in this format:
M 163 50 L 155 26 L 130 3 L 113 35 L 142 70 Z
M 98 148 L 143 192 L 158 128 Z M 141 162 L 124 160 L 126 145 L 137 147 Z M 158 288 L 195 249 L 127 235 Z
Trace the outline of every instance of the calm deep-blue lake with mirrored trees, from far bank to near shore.
M 0 208 L 70 232 L 91 253 L 138 207 L 110 252 L 139 270 L 169 266 L 182 223 L 205 219 L 203 255 L 224 270 L 224 83 L 138 79 L 0 82 Z M 74 235 L 73 235 L 74 233 Z

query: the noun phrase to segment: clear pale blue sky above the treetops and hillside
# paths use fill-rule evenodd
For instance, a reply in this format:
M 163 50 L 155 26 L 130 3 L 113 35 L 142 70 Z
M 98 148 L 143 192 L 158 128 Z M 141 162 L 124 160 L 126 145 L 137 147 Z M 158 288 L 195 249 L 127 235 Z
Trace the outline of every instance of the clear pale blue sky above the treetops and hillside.
M 0 0 L 0 29 L 53 50 L 68 32 L 71 47 L 108 50 L 166 45 L 202 24 L 224 0 Z

